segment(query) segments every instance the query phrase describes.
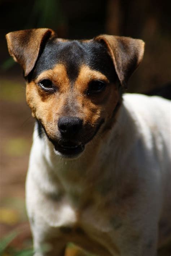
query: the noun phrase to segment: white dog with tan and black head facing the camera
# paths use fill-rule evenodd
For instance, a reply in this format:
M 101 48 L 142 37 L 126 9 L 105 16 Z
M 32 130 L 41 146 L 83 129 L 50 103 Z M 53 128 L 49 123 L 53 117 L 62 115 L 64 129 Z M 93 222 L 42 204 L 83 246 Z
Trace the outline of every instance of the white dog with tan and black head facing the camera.
M 73 242 L 99 256 L 156 256 L 171 238 L 171 104 L 124 93 L 144 42 L 44 28 L 6 39 L 36 119 L 26 180 L 35 255 L 62 256 Z

